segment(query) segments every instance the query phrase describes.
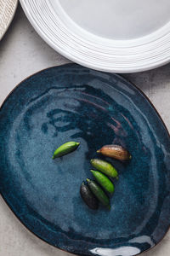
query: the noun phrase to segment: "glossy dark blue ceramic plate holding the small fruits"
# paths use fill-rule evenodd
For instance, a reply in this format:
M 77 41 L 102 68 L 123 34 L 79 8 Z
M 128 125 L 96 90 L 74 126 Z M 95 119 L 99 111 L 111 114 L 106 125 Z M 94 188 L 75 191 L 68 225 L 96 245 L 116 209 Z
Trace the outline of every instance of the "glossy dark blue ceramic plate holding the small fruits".
M 77 151 L 52 160 L 54 149 Z M 23 81 L 0 110 L 0 191 L 34 234 L 71 253 L 132 256 L 154 247 L 170 224 L 170 139 L 147 98 L 125 79 L 77 65 Z M 79 195 L 90 159 L 108 143 L 129 149 L 111 211 Z

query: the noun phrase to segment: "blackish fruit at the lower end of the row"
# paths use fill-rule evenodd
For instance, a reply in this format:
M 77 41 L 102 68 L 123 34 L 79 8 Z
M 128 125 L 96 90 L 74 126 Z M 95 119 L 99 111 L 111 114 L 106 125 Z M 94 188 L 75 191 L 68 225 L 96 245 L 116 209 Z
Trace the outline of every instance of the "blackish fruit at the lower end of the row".
M 97 210 L 99 208 L 99 201 L 84 182 L 80 188 L 80 194 L 90 209 Z

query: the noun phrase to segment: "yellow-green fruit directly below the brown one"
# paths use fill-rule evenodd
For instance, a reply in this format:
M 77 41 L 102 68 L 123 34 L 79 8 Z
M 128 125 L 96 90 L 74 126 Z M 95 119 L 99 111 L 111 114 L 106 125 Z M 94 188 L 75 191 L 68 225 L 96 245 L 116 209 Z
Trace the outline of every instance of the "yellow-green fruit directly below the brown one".
M 105 173 L 109 177 L 117 177 L 118 173 L 114 166 L 110 163 L 100 160 L 100 159 L 92 159 L 91 161 L 92 166 L 100 172 Z

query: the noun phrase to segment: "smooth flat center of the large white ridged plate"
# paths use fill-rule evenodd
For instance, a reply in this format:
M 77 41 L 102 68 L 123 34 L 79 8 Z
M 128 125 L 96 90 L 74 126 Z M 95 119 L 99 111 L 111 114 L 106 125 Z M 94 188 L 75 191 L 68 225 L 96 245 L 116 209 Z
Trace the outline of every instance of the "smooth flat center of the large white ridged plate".
M 63 19 L 101 38 L 133 39 L 169 22 L 169 0 L 50 0 Z

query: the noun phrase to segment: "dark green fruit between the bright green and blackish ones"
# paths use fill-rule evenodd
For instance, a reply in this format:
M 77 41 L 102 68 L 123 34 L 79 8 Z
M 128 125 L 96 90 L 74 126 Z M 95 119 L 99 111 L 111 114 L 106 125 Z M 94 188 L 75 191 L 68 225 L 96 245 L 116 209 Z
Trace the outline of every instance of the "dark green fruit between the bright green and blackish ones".
M 100 186 L 95 183 L 93 180 L 90 180 L 87 178 L 88 186 L 91 189 L 91 191 L 94 193 L 94 195 L 97 197 L 97 199 L 108 209 L 111 209 L 110 205 L 110 199 L 107 195 L 105 195 L 105 192 L 103 189 L 100 188 Z

